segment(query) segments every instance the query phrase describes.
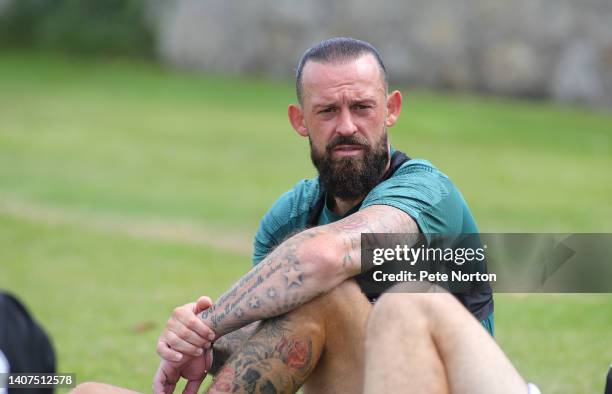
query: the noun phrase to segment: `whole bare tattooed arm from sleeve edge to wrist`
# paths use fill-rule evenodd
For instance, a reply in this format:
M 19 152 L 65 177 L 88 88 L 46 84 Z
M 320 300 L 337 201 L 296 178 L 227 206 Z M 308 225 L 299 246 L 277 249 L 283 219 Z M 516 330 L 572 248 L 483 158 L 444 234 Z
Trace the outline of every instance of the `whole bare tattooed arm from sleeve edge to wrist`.
M 200 316 L 218 338 L 281 315 L 360 273 L 361 233 L 416 232 L 409 215 L 384 205 L 305 230 L 279 245 Z

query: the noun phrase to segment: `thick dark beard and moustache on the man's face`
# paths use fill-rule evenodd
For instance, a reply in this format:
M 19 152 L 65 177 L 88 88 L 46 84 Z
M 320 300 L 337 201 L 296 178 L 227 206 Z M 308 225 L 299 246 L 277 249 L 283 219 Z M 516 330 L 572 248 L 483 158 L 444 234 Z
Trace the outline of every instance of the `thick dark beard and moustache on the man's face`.
M 333 159 L 332 149 L 338 145 L 360 145 L 363 148 L 363 159 Z M 338 136 L 327 144 L 324 154 L 315 152 L 310 141 L 310 158 L 319 171 L 319 180 L 327 193 L 344 200 L 364 197 L 380 182 L 387 168 L 387 132 L 372 146 L 357 136 Z

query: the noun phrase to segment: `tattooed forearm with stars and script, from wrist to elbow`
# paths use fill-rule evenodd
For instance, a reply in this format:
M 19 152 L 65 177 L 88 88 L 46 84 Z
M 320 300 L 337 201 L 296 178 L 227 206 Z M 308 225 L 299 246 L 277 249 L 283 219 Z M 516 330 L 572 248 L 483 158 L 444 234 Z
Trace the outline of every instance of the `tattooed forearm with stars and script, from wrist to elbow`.
M 359 270 L 331 261 L 342 247 L 336 244 L 336 238 L 320 228 L 293 236 L 204 311 L 202 319 L 220 337 L 330 291 Z

